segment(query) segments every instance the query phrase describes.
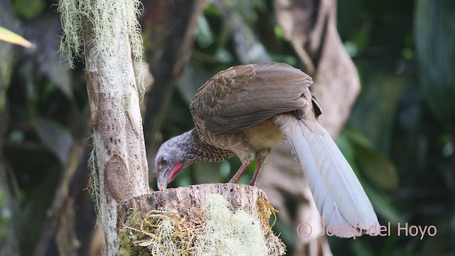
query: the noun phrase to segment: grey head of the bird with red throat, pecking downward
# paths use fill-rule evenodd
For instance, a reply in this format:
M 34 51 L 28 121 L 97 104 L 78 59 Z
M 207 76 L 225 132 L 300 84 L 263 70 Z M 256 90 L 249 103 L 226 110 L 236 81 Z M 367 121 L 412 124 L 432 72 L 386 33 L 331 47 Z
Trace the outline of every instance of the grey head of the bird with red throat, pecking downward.
M 157 186 L 159 190 L 166 189 L 169 182 L 181 172 L 183 168 L 193 163 L 191 154 L 191 132 L 186 132 L 164 142 L 155 156 L 155 171 L 158 174 Z

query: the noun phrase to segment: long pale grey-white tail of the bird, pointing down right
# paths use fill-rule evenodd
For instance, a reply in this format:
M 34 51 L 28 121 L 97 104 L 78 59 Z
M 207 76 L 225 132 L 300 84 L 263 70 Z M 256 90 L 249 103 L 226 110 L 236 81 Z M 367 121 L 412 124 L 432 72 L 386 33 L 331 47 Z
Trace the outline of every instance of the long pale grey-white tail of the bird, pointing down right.
M 349 237 L 346 230 L 379 225 L 353 169 L 318 121 L 281 114 L 274 123 L 299 161 L 327 228 L 331 226 L 339 231 L 336 235 Z

